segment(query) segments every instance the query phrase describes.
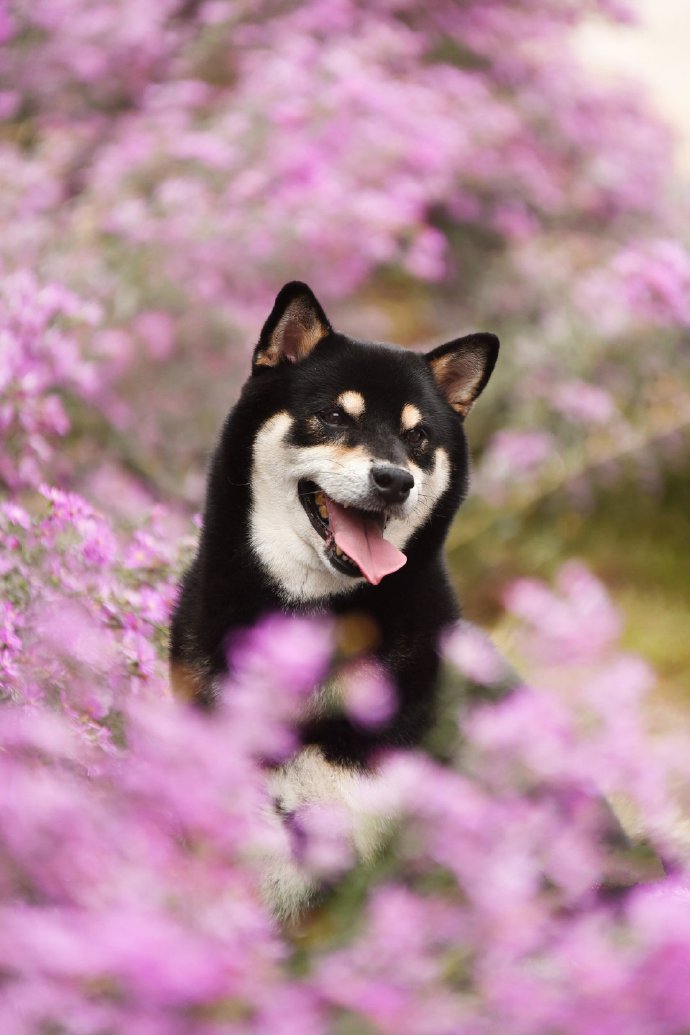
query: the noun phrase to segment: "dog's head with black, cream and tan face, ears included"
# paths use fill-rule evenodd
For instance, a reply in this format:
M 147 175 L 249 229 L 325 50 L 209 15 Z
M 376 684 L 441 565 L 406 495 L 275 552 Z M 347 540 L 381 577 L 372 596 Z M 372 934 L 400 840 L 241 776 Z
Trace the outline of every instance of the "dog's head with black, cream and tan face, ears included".
M 467 482 L 462 421 L 496 363 L 493 334 L 426 355 L 336 333 L 289 284 L 254 350 L 273 412 L 253 443 L 250 539 L 294 602 L 378 585 Z M 444 523 L 444 532 L 447 522 Z

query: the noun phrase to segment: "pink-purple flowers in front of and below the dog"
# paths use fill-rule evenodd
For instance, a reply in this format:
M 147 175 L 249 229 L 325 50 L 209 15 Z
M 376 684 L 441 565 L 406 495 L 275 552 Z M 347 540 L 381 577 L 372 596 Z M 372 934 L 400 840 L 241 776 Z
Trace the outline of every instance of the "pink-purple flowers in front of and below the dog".
M 556 663 L 576 693 L 487 703 L 502 663 L 460 626 L 449 664 L 475 688 L 449 693 L 452 764 L 382 760 L 366 807 L 390 831 L 383 856 L 348 877 L 347 826 L 293 818 L 301 865 L 336 881 L 295 940 L 262 896 L 262 860 L 290 840 L 264 766 L 295 750 L 290 722 L 331 630 L 272 619 L 235 645 L 213 715 L 174 702 L 150 650 L 170 558 L 42 492 L 34 518 L 2 511 L 3 1031 L 592 1035 L 603 1016 L 633 1035 L 687 1029 L 687 738 L 646 732 L 653 675 L 617 647 L 586 569 L 508 600 L 536 683 Z M 376 694 L 371 708 L 376 721 Z M 603 794 L 656 861 L 624 845 Z

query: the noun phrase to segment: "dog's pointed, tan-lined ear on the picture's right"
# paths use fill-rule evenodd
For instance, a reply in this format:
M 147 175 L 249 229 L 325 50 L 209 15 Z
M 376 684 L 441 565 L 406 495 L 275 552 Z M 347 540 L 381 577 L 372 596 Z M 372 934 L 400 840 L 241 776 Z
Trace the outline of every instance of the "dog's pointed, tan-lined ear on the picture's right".
M 441 394 L 460 417 L 467 417 L 472 404 L 486 386 L 498 355 L 496 334 L 480 332 L 440 345 L 427 352 L 424 359 Z

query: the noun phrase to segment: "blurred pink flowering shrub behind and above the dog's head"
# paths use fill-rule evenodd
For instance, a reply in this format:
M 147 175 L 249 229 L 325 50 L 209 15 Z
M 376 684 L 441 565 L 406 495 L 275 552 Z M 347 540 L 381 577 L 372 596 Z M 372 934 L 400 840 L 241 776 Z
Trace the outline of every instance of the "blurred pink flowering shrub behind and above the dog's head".
M 118 433 L 102 430 L 101 450 L 193 496 L 190 459 L 296 276 L 332 303 L 372 279 L 434 303 L 421 320 L 398 305 L 393 326 L 367 305 L 357 320 L 377 337 L 503 332 L 498 447 L 524 446 L 523 480 L 548 468 L 523 438 L 536 420 L 565 416 L 560 461 L 575 466 L 632 430 L 666 431 L 687 403 L 687 379 L 669 398 L 662 368 L 671 348 L 686 368 L 690 269 L 669 135 L 631 88 L 595 85 L 571 46 L 586 17 L 632 13 L 619 0 L 5 5 L 0 262 L 100 307 L 91 347 L 113 390 L 98 408 Z M 650 335 L 661 369 L 642 359 Z M 65 388 L 76 376 L 63 364 Z M 610 437 L 601 398 L 573 404 L 573 383 L 616 393 Z M 653 421 L 640 389 L 659 398 Z M 49 391 L 33 404 L 39 453 L 66 427 Z M 180 436 L 202 398 L 207 419 Z M 26 454 L 25 479 L 35 464 Z

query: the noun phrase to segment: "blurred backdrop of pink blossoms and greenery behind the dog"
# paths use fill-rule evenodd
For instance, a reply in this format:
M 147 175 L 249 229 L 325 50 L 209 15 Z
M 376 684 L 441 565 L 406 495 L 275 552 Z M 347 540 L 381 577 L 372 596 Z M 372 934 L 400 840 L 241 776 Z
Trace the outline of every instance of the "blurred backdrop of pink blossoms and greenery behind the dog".
M 503 341 L 450 542 L 587 561 L 683 694 L 690 14 L 681 0 L 35 0 L 0 19 L 0 477 L 191 529 L 287 279 L 336 326 Z M 35 299 L 40 299 L 36 304 Z

